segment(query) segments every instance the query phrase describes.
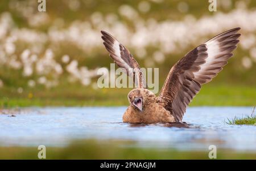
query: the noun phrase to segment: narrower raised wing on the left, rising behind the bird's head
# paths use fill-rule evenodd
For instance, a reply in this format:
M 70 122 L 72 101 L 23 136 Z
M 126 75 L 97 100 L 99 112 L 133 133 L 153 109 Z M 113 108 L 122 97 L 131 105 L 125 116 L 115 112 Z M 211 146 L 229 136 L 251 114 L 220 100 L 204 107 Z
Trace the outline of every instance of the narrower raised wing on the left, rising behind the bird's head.
M 125 69 L 127 75 L 133 76 L 134 83 L 138 88 L 147 88 L 142 70 L 139 67 L 138 62 L 133 58 L 133 55 L 130 54 L 129 50 L 109 33 L 105 31 L 101 31 L 101 33 L 101 38 L 104 40 L 103 44 L 114 62 L 119 67 Z

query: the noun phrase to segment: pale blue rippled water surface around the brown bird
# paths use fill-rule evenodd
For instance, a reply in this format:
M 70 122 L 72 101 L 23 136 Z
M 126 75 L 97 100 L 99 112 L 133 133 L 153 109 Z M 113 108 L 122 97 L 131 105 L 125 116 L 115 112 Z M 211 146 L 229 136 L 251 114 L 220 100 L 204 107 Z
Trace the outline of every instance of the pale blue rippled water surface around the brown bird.
M 122 123 L 126 107 L 24 108 L 0 114 L 0 146 L 65 146 L 75 139 L 134 140 L 140 147 L 208 150 L 209 145 L 256 152 L 256 126 L 225 123 L 249 107 L 188 108 L 188 126 Z

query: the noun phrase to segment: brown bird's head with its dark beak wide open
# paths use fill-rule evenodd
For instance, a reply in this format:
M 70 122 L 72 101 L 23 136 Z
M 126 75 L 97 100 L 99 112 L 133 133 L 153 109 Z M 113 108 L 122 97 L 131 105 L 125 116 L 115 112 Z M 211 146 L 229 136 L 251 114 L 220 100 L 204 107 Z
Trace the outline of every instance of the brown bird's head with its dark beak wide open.
M 155 94 L 146 88 L 135 88 L 128 94 L 128 100 L 135 110 L 142 112 L 147 104 L 154 101 Z

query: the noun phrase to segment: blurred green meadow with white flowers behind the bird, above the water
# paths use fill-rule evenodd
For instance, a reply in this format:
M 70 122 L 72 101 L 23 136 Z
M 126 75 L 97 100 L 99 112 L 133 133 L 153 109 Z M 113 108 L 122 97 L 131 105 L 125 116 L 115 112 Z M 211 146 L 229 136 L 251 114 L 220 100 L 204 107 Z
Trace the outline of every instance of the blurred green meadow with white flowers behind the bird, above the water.
M 98 88 L 97 70 L 113 63 L 100 31 L 112 33 L 141 67 L 159 68 L 159 89 L 172 65 L 218 33 L 241 27 L 224 70 L 191 105 L 256 104 L 256 1 L 0 2 L 0 105 L 128 105 L 130 88 Z

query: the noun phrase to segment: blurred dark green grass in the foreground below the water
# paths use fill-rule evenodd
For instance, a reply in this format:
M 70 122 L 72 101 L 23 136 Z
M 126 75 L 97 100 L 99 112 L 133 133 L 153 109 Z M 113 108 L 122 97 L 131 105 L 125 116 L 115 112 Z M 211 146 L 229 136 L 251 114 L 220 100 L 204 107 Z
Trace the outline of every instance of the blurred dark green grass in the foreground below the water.
M 0 147 L 0 159 L 38 159 L 37 147 Z M 81 140 L 68 147 L 46 147 L 46 159 L 209 159 L 206 151 L 139 148 L 134 142 Z M 256 159 L 256 153 L 218 149 L 217 159 Z

